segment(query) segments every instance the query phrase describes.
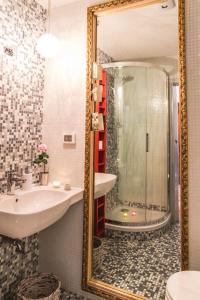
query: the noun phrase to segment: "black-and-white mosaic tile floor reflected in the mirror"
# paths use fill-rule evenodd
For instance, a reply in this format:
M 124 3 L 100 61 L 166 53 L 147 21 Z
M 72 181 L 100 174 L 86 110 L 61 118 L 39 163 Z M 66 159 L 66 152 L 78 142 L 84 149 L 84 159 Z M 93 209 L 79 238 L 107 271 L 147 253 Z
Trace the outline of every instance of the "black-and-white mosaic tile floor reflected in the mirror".
M 149 299 L 165 299 L 167 279 L 180 270 L 178 225 L 145 241 L 106 237 L 101 247 L 102 264 L 94 270 L 94 278 Z

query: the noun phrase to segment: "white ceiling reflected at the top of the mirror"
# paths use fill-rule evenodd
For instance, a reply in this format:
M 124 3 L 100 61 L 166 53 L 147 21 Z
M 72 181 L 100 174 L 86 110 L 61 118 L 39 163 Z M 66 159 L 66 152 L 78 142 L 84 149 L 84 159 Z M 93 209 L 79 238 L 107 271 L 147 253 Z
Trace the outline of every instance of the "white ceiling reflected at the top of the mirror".
M 123 10 L 99 17 L 97 46 L 116 61 L 177 56 L 177 6 L 160 4 Z

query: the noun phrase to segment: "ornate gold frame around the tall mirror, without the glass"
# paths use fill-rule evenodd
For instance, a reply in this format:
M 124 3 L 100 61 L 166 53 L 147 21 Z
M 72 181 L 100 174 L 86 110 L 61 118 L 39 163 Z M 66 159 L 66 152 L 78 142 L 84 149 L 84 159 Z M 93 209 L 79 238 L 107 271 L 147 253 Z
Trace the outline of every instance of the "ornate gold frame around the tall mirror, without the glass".
M 94 132 L 91 130 L 92 101 L 92 64 L 96 59 L 97 16 L 110 11 L 162 2 L 162 0 L 113 0 L 88 8 L 87 36 L 87 103 L 85 135 L 85 193 L 84 193 L 84 232 L 83 232 L 83 277 L 82 288 L 104 299 L 146 299 L 133 293 L 105 284 L 92 278 L 92 212 L 94 184 Z M 188 129 L 186 102 L 186 57 L 185 57 L 185 1 L 179 0 L 179 80 L 181 110 L 181 263 L 182 270 L 188 269 Z

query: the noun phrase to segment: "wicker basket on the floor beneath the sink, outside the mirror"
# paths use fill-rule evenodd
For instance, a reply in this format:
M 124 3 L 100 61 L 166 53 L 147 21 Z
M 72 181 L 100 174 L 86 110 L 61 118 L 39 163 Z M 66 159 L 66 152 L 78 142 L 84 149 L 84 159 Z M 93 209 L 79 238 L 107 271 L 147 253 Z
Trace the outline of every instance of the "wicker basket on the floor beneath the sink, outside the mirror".
M 61 282 L 49 273 L 40 273 L 23 280 L 17 290 L 20 300 L 59 300 Z

